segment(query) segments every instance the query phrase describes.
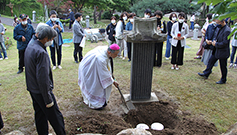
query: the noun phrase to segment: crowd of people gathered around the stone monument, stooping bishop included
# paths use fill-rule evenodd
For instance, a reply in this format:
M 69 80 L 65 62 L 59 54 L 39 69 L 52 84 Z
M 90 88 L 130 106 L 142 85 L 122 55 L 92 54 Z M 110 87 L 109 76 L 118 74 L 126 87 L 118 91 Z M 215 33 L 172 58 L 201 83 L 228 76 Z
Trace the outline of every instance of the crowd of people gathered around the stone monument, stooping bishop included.
M 133 29 L 135 13 L 124 12 L 120 15 L 119 21 L 116 22 L 115 16 L 111 17 L 111 23 L 106 28 L 108 35 L 108 46 L 96 47 L 89 51 L 85 57 L 82 56 L 81 43 L 86 37 L 85 30 L 81 25 L 82 14 L 76 13 L 71 21 L 73 29 L 74 43 L 74 61 L 79 63 L 78 85 L 81 88 L 84 103 L 88 107 L 96 110 L 103 109 L 111 93 L 112 85 L 118 87 L 118 82 L 113 76 L 113 58 L 132 60 L 132 43 L 126 42 L 124 30 Z M 186 15 L 180 12 L 171 13 L 170 21 L 162 21 L 163 13 L 156 11 L 154 14 L 150 9 L 145 10 L 144 19 L 156 17 L 157 30 L 167 34 L 165 59 L 170 60 L 171 69 L 179 70 L 183 65 L 184 47 L 189 34 L 189 26 L 185 23 Z M 227 59 L 230 56 L 230 39 L 228 39 L 231 29 L 227 26 L 225 19 L 216 19 L 217 15 L 207 14 L 206 23 L 202 28 L 203 38 L 200 44 L 198 59 L 206 65 L 203 73 L 199 76 L 207 79 L 212 73 L 213 66 L 220 62 L 222 77 L 217 84 L 224 84 L 227 81 Z M 13 37 L 17 41 L 19 55 L 19 66 L 17 74 L 23 72 L 25 67 L 27 90 L 32 98 L 33 108 L 35 110 L 35 123 L 38 134 L 48 134 L 48 121 L 52 125 L 56 134 L 66 134 L 64 120 L 56 99 L 52 92 L 54 88 L 53 76 L 50 64 L 50 57 L 46 47 L 50 48 L 51 62 L 53 70 L 61 67 L 62 59 L 62 32 L 64 28 L 59 19 L 57 12 L 50 12 L 50 20 L 45 24 L 38 24 L 36 30 L 30 24 L 26 14 L 14 18 Z M 71 22 L 70 22 L 71 23 Z M 193 25 L 193 24 L 192 24 Z M 71 26 L 70 26 L 71 27 Z M 192 29 L 193 26 L 191 26 Z M 5 28 L 0 23 L 0 43 L 4 50 Z M 237 48 L 237 35 L 234 34 L 232 40 L 232 54 L 230 68 L 237 68 L 237 60 L 233 64 L 234 55 Z M 57 51 L 57 65 L 55 59 Z M 154 66 L 162 66 L 163 42 L 155 44 Z M 7 59 L 6 52 L 3 51 L 4 59 Z M 2 56 L 0 55 L 0 60 Z

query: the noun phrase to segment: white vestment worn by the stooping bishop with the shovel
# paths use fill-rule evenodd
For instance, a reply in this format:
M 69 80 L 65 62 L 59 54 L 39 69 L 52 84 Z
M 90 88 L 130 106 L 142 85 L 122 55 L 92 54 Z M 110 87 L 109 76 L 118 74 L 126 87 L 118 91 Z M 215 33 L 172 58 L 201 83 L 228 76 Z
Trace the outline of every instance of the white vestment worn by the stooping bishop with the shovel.
M 102 107 L 108 101 L 113 84 L 108 46 L 98 46 L 82 59 L 78 69 L 78 85 L 84 103 L 90 108 Z

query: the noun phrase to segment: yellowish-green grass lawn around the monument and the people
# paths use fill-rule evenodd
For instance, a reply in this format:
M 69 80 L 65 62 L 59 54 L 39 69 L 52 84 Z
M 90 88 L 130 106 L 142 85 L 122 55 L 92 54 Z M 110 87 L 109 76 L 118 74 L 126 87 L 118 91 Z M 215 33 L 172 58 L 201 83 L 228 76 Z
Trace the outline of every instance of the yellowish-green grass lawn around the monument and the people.
M 6 36 L 13 41 L 13 46 L 7 50 L 8 60 L 0 61 L 0 111 L 5 123 L 4 133 L 21 130 L 25 134 L 36 134 L 34 126 L 34 112 L 32 101 L 26 90 L 25 73 L 16 74 L 18 71 L 18 52 L 16 41 L 13 39 L 13 27 L 7 26 Z M 72 38 L 72 33 L 63 33 L 63 38 Z M 185 49 L 184 65 L 179 71 L 171 70 L 170 60 L 163 58 L 161 68 L 154 68 L 152 91 L 163 90 L 174 96 L 180 103 L 181 110 L 189 110 L 194 115 L 202 115 L 206 120 L 213 122 L 218 131 L 223 133 L 237 119 L 236 80 L 237 70 L 228 70 L 228 81 L 225 85 L 215 84 L 221 77 L 218 67 L 213 68 L 209 79 L 204 80 L 197 75 L 205 69 L 200 60 L 194 60 L 200 41 L 188 39 Z M 64 117 L 70 108 L 78 107 L 81 94 L 77 85 L 78 64 L 73 60 L 73 44 L 63 47 L 62 70 L 53 71 L 54 94 Z M 86 42 L 83 50 L 85 55 L 97 45 L 107 45 L 106 41 L 93 43 Z M 163 56 L 165 45 L 163 47 Z M 115 59 L 116 80 L 121 89 L 129 89 L 130 64 L 122 59 Z

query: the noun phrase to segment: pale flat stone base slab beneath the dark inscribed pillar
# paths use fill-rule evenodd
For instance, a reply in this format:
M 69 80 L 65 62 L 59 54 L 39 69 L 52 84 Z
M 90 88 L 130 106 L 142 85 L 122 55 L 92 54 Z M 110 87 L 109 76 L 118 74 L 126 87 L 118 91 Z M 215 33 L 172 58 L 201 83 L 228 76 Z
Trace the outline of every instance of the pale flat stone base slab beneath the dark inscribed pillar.
M 123 96 L 124 96 L 126 102 L 131 100 L 130 94 L 124 94 Z M 149 103 L 149 102 L 158 102 L 159 99 L 158 99 L 158 97 L 156 96 L 156 94 L 154 92 L 151 92 L 151 98 L 150 99 L 147 99 L 147 100 L 131 100 L 131 101 L 132 101 L 132 103 Z

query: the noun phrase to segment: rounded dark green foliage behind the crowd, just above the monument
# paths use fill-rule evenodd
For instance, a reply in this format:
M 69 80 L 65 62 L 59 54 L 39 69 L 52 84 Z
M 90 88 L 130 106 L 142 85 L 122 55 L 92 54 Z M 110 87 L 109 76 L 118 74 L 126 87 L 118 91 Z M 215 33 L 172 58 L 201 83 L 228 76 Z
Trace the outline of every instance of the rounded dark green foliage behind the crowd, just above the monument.
M 191 5 L 190 0 L 141 0 L 133 4 L 130 10 L 143 16 L 147 8 L 153 13 L 161 10 L 163 13 L 184 12 L 187 14 L 197 11 L 200 7 L 201 4 Z

